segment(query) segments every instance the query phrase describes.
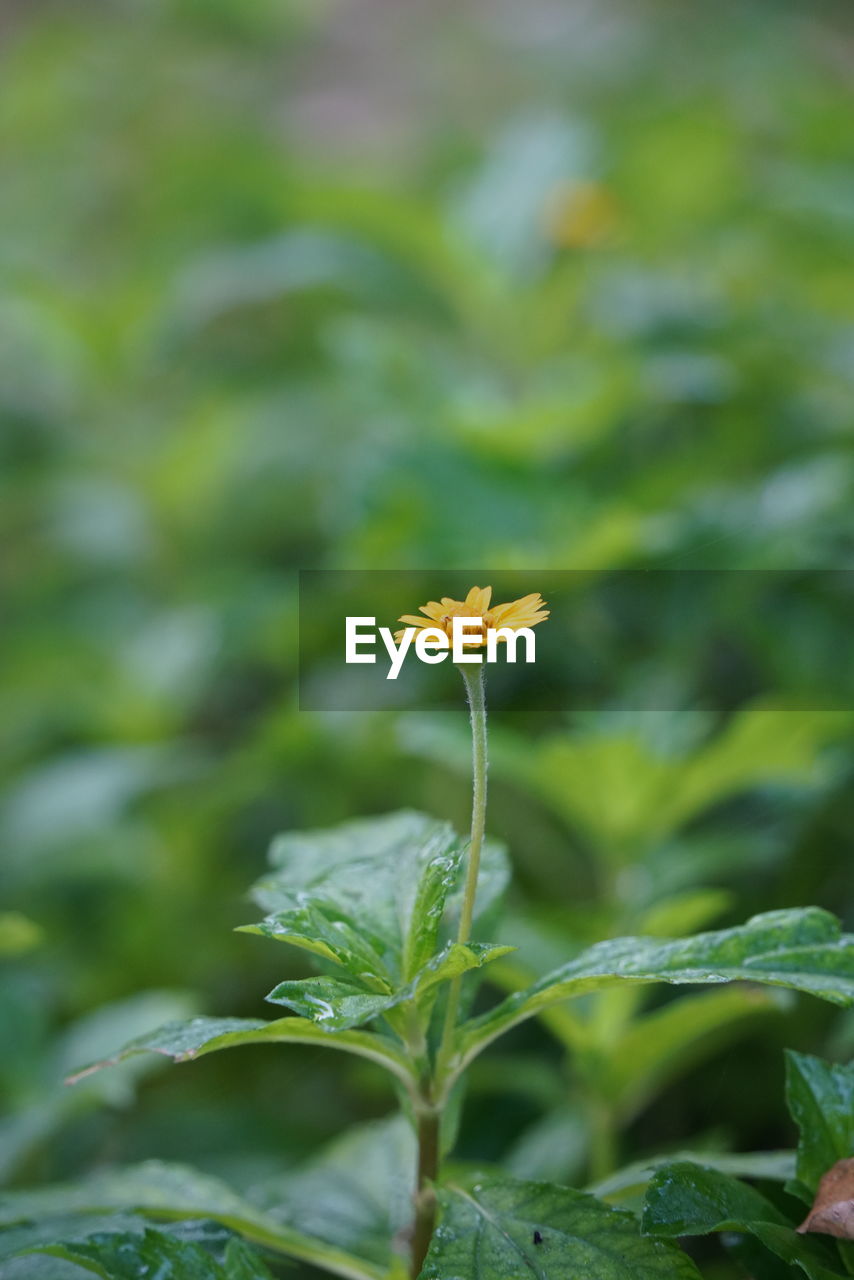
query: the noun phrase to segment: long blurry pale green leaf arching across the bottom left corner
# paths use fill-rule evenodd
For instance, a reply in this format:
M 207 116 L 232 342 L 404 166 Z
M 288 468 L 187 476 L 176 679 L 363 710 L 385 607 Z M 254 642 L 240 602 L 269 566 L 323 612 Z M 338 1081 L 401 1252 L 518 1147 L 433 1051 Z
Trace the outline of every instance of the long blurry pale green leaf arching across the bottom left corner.
M 108 1210 L 134 1211 L 164 1221 L 214 1219 L 247 1240 L 325 1267 L 335 1275 L 352 1280 L 379 1280 L 380 1275 L 343 1251 L 278 1222 L 219 1179 L 184 1165 L 155 1160 L 99 1172 L 69 1185 L 8 1192 L 0 1196 L 0 1225 L 49 1215 L 102 1213 Z

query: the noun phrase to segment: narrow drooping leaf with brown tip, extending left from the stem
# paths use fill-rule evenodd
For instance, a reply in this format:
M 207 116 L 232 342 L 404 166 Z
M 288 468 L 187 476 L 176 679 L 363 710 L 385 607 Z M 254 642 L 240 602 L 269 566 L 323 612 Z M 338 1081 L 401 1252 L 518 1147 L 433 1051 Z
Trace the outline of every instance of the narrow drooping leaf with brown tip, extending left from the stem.
M 323 1044 L 325 1048 L 370 1059 L 397 1076 L 407 1089 L 414 1085 L 407 1059 L 388 1037 L 370 1032 L 333 1034 L 305 1018 L 279 1018 L 273 1023 L 255 1021 L 251 1018 L 192 1018 L 187 1023 L 168 1023 L 156 1032 L 132 1039 L 113 1057 L 83 1068 L 69 1078 L 69 1083 L 145 1051 L 164 1053 L 175 1062 L 187 1062 L 205 1053 L 241 1044 Z

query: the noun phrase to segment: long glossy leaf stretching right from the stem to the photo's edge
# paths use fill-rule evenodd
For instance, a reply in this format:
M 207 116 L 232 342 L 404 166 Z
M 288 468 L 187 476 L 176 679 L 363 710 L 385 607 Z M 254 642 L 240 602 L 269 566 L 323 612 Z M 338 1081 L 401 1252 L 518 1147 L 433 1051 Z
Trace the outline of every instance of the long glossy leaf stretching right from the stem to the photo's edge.
M 511 1027 L 549 1005 L 618 983 L 761 982 L 854 1004 L 854 937 L 818 908 L 768 911 L 746 924 L 693 938 L 613 938 L 597 943 L 526 991 L 465 1024 L 457 1070 Z

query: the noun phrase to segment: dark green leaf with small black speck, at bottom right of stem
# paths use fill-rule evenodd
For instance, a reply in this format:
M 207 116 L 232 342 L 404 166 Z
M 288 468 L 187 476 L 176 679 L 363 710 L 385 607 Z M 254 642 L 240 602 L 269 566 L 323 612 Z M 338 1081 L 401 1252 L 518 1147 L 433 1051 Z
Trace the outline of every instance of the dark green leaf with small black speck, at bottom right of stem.
M 494 1179 L 439 1192 L 421 1280 L 694 1280 L 679 1248 L 644 1239 L 631 1213 L 551 1183 Z

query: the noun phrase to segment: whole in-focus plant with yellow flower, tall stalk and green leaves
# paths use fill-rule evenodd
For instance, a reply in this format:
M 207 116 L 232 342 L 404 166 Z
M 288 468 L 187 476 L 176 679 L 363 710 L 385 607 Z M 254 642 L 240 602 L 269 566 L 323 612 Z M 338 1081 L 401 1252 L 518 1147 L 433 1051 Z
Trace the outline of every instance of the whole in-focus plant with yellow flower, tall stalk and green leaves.
M 539 594 L 495 607 L 490 599 L 489 588 L 472 588 L 462 602 L 444 596 L 423 605 L 421 617 L 403 614 L 401 621 L 447 631 L 462 611 L 483 620 L 484 643 L 490 628 L 526 627 L 548 618 Z M 448 1160 L 471 1064 L 528 1019 L 543 1018 L 552 1025 L 558 1020 L 586 1070 L 607 1070 L 595 1039 L 595 1014 L 585 1021 L 566 1007 L 580 997 L 589 1001 L 606 991 L 631 997 L 634 988 L 652 983 L 750 983 L 752 1001 L 761 986 L 854 1005 L 854 938 L 840 934 L 834 916 L 810 908 L 771 911 L 693 937 L 607 938 L 567 956 L 536 980 L 511 980 L 503 1000 L 475 1006 L 478 982 L 490 968 L 502 972 L 502 984 L 508 986 L 513 968 L 503 957 L 513 948 L 487 941 L 508 864 L 503 849 L 485 836 L 483 666 L 460 671 L 472 748 L 467 838 L 412 812 L 278 837 L 271 872 L 254 891 L 262 916 L 243 928 L 301 950 L 318 970 L 280 982 L 269 993 L 268 1001 L 287 1015 L 269 1021 L 172 1023 L 79 1073 L 146 1050 L 187 1061 L 242 1044 L 310 1044 L 364 1059 L 384 1071 L 398 1100 L 398 1117 L 357 1135 L 343 1156 L 337 1152 L 332 1198 L 323 1162 L 283 1188 L 273 1185 L 251 1197 L 168 1165 L 111 1171 L 74 1188 L 12 1193 L 1 1206 L 6 1221 L 27 1220 L 38 1210 L 64 1215 L 58 1234 L 51 1238 L 42 1230 L 29 1252 L 56 1254 L 108 1280 L 141 1277 L 152 1268 L 164 1280 L 261 1280 L 269 1272 L 250 1245 L 270 1258 L 284 1256 L 350 1280 L 407 1275 L 412 1280 L 690 1280 L 698 1268 L 673 1238 L 730 1230 L 754 1236 L 784 1270 L 796 1265 L 810 1280 L 844 1274 L 836 1243 L 799 1235 L 794 1221 L 732 1176 L 734 1171 L 789 1176 L 807 1203 L 816 1192 L 825 1197 L 800 1230 L 830 1231 L 831 1222 L 832 1234 L 845 1234 L 840 1228 L 845 1213 L 826 1202 L 832 1188 L 848 1185 L 850 1170 L 842 1169 L 830 1183 L 825 1175 L 834 1160 L 850 1156 L 850 1107 L 845 1111 L 834 1100 L 845 1091 L 849 1097 L 854 1093 L 854 1078 L 845 1074 L 848 1069 L 818 1060 L 790 1059 L 793 1112 L 802 1120 L 823 1112 L 826 1120 L 819 1132 L 804 1124 L 796 1162 L 743 1157 L 734 1170 L 714 1157 L 659 1161 L 653 1162 L 657 1169 L 652 1164 L 622 1172 L 600 1169 L 609 1178 L 580 1190 L 515 1178 L 497 1167 L 472 1174 Z M 697 1024 L 699 998 L 676 1002 L 663 1047 L 638 1043 L 638 1059 L 652 1055 L 653 1066 L 658 1061 L 661 1069 L 668 1044 L 686 1043 L 685 1027 Z M 688 1010 L 680 1014 L 682 1005 Z M 624 1068 L 630 1074 L 641 1065 L 630 1061 Z M 384 1190 L 373 1201 L 362 1193 L 362 1183 L 378 1169 Z M 620 1202 L 627 1193 L 636 1199 L 644 1187 L 639 1217 Z M 108 1210 L 122 1211 L 111 1230 L 105 1229 Z M 70 1230 L 69 1213 L 97 1215 L 97 1225 Z M 140 1229 L 138 1215 L 161 1226 Z M 227 1243 L 218 1256 L 174 1225 L 200 1219 L 225 1229 Z

